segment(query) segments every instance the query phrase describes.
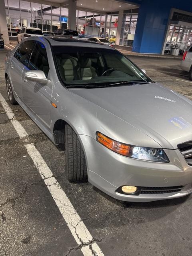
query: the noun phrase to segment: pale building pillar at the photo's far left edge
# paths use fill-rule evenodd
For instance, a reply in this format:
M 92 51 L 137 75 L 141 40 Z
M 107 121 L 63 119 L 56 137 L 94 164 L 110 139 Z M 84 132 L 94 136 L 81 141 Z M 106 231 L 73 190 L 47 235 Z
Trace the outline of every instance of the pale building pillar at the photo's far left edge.
M 3 34 L 4 43 L 9 44 L 4 0 L 0 0 L 0 33 Z

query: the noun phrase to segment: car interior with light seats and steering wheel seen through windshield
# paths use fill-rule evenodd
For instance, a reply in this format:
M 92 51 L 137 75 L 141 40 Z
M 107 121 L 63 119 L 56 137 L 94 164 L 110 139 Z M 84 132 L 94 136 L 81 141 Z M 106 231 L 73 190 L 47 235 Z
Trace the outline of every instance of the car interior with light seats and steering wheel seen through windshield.
M 134 70 L 132 63 L 121 54 L 72 52 L 56 53 L 55 56 L 60 76 L 64 82 L 107 78 L 138 80 L 143 76 L 142 73 L 138 73 L 139 70 Z

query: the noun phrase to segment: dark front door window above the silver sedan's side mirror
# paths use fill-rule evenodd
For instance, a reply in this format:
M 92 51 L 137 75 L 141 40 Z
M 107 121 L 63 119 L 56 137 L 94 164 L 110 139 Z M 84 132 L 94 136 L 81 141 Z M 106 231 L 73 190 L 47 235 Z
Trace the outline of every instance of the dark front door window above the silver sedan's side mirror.
M 46 76 L 49 72 L 49 64 L 44 44 L 37 42 L 32 51 L 29 66 L 30 70 L 42 70 Z

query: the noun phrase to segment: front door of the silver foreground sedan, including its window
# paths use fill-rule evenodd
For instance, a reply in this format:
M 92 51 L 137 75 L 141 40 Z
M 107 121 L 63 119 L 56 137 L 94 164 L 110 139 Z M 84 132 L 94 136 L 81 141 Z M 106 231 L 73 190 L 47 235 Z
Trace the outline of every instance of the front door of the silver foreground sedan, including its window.
M 24 78 L 28 70 L 42 70 L 49 79 L 49 64 L 44 44 L 36 42 L 31 53 L 28 67 L 22 73 L 23 101 L 29 110 L 38 118 L 38 121 L 50 130 L 50 106 L 52 96 L 52 83 L 40 84 Z

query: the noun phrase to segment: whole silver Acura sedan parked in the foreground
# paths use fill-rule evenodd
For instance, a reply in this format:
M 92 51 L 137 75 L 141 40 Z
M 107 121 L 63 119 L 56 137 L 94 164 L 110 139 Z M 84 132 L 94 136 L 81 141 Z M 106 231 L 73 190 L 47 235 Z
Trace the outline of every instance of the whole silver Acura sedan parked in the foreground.
M 133 202 L 192 192 L 192 101 L 114 48 L 30 37 L 7 54 L 5 79 L 10 102 L 65 144 L 68 180 Z

